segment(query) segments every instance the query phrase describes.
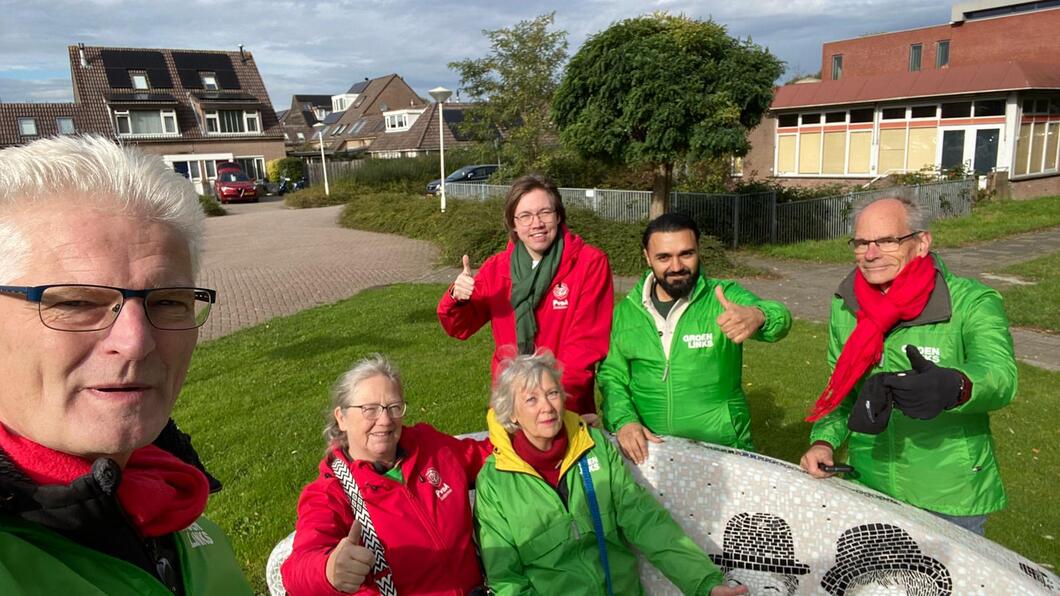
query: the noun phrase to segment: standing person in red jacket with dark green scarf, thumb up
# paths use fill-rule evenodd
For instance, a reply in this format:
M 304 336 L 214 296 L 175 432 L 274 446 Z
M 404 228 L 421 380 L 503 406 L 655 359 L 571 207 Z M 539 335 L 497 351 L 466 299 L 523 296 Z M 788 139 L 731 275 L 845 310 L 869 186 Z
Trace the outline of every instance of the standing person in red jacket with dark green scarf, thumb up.
M 596 365 L 607 354 L 615 303 L 607 256 L 567 229 L 560 192 L 541 176 L 512 185 L 505 227 L 508 248 L 476 276 L 464 256 L 463 271 L 438 303 L 438 319 L 459 339 L 491 323 L 494 379 L 504 358 L 548 349 L 563 367 L 567 409 L 595 414 Z

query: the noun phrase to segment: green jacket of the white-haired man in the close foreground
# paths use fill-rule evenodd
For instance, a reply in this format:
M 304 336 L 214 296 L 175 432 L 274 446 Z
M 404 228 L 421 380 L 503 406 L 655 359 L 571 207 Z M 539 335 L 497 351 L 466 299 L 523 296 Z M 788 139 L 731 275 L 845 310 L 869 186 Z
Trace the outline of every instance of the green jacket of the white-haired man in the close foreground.
M 251 594 L 228 539 L 199 520 L 174 534 L 187 596 Z M 0 516 L 0 594 L 172 596 L 140 567 L 43 526 Z

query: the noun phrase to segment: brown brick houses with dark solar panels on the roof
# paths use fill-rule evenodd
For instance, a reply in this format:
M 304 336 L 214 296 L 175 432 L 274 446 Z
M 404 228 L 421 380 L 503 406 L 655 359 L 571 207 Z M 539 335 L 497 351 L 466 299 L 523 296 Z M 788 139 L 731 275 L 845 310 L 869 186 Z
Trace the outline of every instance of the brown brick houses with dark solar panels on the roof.
M 95 134 L 159 155 L 206 192 L 218 161 L 264 178 L 283 133 L 253 55 L 70 46 L 72 103 L 0 104 L 0 147 Z

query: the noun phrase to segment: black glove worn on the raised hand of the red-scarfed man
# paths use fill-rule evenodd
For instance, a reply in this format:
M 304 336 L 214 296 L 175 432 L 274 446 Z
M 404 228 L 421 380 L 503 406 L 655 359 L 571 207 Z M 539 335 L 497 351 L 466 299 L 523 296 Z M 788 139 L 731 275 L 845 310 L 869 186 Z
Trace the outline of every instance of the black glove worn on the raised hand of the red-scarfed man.
M 965 375 L 952 368 L 941 368 L 920 355 L 916 346 L 906 346 L 913 370 L 889 374 L 884 385 L 895 398 L 895 407 L 909 418 L 931 420 L 943 409 L 960 403 Z

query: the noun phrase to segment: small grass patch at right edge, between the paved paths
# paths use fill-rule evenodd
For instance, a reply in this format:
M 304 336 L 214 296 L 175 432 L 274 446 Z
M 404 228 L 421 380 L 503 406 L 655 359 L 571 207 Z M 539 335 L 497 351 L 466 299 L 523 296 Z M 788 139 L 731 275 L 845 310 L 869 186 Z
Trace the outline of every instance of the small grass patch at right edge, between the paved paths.
M 1046 255 L 995 271 L 1036 285 L 1009 285 L 1001 290 L 1012 325 L 1060 333 L 1060 252 Z

